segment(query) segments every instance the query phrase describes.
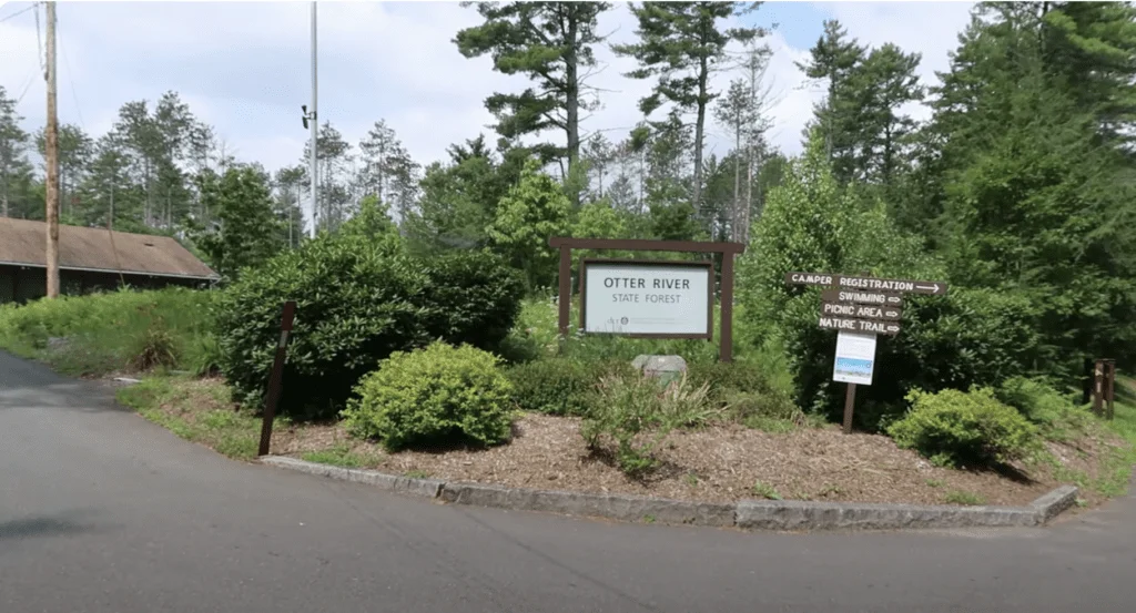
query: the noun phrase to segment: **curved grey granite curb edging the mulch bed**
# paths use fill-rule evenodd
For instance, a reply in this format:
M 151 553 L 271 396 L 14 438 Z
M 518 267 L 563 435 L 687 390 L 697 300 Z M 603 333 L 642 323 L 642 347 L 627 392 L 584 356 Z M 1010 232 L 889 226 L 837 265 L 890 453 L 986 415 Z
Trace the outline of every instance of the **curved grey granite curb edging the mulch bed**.
M 542 511 L 604 518 L 627 522 L 736 527 L 743 530 L 932 530 L 949 528 L 1009 528 L 1044 526 L 1077 502 L 1074 486 L 1061 486 L 1026 506 L 950 506 L 809 501 L 741 501 L 736 504 L 700 503 L 627 496 L 584 494 L 498 485 L 415 479 L 374 470 L 317 464 L 294 457 L 268 455 L 264 464 L 371 485 L 450 504 Z

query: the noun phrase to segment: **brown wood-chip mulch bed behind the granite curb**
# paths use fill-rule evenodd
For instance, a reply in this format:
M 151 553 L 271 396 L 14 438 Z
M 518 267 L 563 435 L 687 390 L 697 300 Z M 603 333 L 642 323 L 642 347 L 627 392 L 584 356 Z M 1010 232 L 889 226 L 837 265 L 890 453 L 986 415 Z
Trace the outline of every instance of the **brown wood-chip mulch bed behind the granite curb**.
M 1061 485 L 1044 464 L 1013 467 L 1005 475 L 943 469 L 897 448 L 885 436 L 845 436 L 835 426 L 788 434 L 737 425 L 674 433 L 658 451 L 661 467 L 643 479 L 630 479 L 591 454 L 578 428 L 578 419 L 526 414 L 507 445 L 390 454 L 350 438 L 337 425 L 302 426 L 277 431 L 273 453 L 300 457 L 349 446 L 367 467 L 391 473 L 704 502 L 758 497 L 753 488 L 760 482 L 786 499 L 949 504 L 947 493 L 964 492 L 987 504 L 1021 505 Z M 1075 445 L 1049 446 L 1067 469 L 1095 478 L 1104 447 L 1116 444 L 1118 439 L 1096 433 Z M 1080 495 L 1088 504 L 1101 501 L 1091 492 Z

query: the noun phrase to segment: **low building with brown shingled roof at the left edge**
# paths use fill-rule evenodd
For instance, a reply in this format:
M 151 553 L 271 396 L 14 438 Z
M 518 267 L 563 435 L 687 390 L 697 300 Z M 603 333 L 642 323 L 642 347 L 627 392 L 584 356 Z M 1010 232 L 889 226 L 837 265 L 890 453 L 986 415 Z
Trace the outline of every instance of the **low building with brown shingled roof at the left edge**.
M 0 303 L 47 294 L 47 224 L 0 218 Z M 202 287 L 220 277 L 167 236 L 59 226 L 64 294 L 167 285 Z

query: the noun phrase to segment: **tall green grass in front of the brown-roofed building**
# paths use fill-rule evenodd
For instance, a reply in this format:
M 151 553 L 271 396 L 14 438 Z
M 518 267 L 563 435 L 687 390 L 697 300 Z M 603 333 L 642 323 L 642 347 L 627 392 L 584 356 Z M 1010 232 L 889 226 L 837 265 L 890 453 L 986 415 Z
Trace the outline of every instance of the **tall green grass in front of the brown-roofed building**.
M 123 289 L 0 305 L 0 349 L 72 376 L 214 370 L 214 294 L 182 287 Z

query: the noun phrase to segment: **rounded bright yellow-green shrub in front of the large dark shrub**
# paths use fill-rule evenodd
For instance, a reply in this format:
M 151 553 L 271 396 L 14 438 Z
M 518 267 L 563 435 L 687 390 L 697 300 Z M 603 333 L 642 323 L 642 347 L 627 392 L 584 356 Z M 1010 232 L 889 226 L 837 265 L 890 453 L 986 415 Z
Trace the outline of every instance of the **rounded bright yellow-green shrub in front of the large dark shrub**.
M 498 363 L 488 352 L 441 342 L 395 352 L 359 381 L 359 397 L 343 411 L 345 423 L 353 435 L 381 439 L 389 451 L 504 442 L 512 389 Z

